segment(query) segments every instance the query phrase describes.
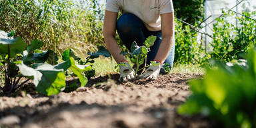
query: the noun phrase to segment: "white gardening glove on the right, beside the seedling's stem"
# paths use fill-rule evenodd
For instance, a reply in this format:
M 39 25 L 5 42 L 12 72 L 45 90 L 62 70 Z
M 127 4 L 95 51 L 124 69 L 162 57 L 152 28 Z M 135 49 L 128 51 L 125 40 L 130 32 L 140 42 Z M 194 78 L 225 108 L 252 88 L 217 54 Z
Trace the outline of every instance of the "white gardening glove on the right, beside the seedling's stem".
M 147 78 L 151 80 L 157 79 L 161 69 L 161 63 L 158 61 L 151 61 L 151 64 L 149 68 L 143 73 L 142 75 L 139 76 L 139 79 L 141 78 Z

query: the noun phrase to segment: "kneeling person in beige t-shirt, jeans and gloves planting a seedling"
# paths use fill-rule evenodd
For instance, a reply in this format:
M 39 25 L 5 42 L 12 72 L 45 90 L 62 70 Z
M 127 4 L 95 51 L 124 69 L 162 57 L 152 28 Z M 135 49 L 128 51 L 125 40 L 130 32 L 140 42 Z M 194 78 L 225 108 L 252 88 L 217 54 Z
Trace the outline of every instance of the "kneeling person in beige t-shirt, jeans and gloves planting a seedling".
M 123 15 L 117 20 L 118 12 Z M 147 64 L 168 63 L 173 67 L 174 59 L 174 13 L 171 0 L 107 0 L 103 35 L 107 49 L 117 61 L 124 63 L 120 67 L 120 80 L 133 79 L 133 69 L 127 59 L 121 55 L 121 49 L 115 40 L 115 31 L 129 50 L 133 41 L 141 46 L 147 37 L 157 37 L 147 55 Z M 141 78 L 156 79 L 160 66 L 150 65 Z

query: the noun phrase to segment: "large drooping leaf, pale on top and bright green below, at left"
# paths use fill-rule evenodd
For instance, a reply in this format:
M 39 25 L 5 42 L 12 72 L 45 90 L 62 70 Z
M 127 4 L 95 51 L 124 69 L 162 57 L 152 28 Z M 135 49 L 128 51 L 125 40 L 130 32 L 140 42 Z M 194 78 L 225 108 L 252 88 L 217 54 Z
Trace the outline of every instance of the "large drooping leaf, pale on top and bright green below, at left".
M 55 69 L 52 65 L 41 63 L 34 65 L 35 69 L 23 63 L 18 65 L 21 74 L 33 77 L 33 83 L 39 93 L 55 95 L 65 89 L 65 74 L 63 69 Z

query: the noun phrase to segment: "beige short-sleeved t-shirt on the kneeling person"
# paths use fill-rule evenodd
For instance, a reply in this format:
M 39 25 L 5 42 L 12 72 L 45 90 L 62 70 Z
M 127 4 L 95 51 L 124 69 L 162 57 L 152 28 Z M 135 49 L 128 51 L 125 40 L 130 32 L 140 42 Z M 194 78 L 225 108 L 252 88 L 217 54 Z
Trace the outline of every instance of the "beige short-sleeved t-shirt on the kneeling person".
M 107 0 L 106 10 L 133 13 L 149 31 L 161 30 L 160 14 L 174 11 L 172 0 Z

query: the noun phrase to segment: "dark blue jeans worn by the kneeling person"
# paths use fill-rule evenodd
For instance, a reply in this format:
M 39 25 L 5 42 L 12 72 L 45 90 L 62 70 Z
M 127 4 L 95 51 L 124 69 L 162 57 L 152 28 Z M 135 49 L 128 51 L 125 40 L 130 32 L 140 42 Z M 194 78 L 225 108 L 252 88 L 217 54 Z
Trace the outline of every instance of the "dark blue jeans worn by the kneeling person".
M 155 59 L 155 55 L 157 55 L 157 51 L 162 41 L 162 31 L 149 31 L 141 19 L 131 13 L 125 13 L 117 20 L 117 33 L 119 34 L 121 41 L 123 41 L 124 45 L 129 50 L 131 50 L 133 41 L 136 41 L 137 45 L 141 46 L 147 37 L 150 35 L 156 36 L 157 40 L 154 45 L 150 47 L 150 51 L 147 55 L 147 64 L 149 65 L 150 61 Z M 171 47 L 171 51 L 169 51 L 169 55 L 164 62 L 168 63 L 171 69 L 173 67 L 174 50 L 175 44 Z

